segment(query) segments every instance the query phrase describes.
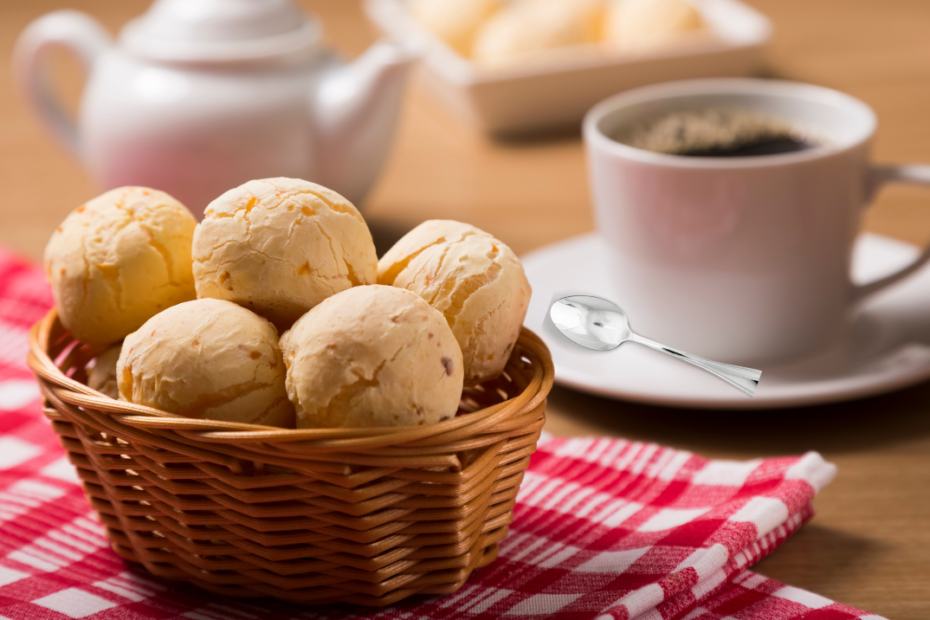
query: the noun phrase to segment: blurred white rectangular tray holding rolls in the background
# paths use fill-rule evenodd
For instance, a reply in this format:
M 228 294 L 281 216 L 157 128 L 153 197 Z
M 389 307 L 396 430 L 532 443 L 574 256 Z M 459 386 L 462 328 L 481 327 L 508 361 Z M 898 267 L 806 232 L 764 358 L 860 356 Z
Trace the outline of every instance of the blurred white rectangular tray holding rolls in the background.
M 365 0 L 365 11 L 382 33 L 422 52 L 427 91 L 465 122 L 501 135 L 577 125 L 598 101 L 638 86 L 757 73 L 771 36 L 769 20 L 739 0 L 692 1 L 713 37 L 682 37 L 635 55 L 577 45 L 506 68 L 459 56 L 417 23 L 404 0 Z

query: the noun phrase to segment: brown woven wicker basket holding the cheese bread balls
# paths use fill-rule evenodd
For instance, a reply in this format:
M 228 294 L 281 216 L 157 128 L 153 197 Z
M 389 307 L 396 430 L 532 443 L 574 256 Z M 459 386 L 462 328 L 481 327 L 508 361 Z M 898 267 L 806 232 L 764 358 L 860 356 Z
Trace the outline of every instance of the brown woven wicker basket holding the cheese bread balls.
M 85 385 L 99 353 L 52 310 L 30 337 L 45 415 L 113 549 L 230 597 L 382 606 L 448 594 L 497 556 L 545 422 L 552 358 L 524 329 L 504 374 L 419 427 L 194 420 Z

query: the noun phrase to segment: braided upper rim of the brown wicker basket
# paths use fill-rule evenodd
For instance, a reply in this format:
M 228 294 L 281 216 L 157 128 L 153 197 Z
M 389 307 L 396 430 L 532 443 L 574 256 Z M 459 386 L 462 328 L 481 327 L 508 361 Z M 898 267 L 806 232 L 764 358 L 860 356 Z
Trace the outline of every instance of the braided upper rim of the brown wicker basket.
M 244 422 L 222 422 L 186 418 L 176 414 L 114 400 L 83 383 L 66 376 L 49 354 L 53 331 L 66 331 L 55 308 L 32 326 L 29 332 L 29 354 L 27 364 L 38 376 L 54 385 L 56 395 L 64 402 L 105 412 L 128 426 L 148 430 L 174 430 L 195 435 L 208 443 L 291 443 L 330 449 L 384 447 L 411 442 L 433 441 L 437 436 L 465 430 L 480 432 L 480 427 L 499 423 L 510 414 L 524 411 L 545 400 L 552 387 L 555 369 L 552 356 L 545 343 L 526 327 L 521 328 L 512 355 L 530 360 L 533 377 L 526 388 L 515 397 L 484 409 L 453 417 L 444 422 L 416 427 L 369 427 L 369 428 L 324 428 L 282 429 Z M 73 340 L 73 338 L 72 338 Z M 433 441 L 431 441 L 433 440 Z

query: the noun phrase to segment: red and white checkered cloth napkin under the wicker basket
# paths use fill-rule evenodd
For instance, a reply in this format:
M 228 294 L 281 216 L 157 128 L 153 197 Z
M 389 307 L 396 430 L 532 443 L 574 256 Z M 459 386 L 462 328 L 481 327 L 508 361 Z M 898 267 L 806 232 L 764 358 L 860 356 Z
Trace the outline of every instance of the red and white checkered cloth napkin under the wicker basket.
M 811 517 L 817 454 L 748 462 L 618 439 L 546 437 L 500 557 L 446 597 L 384 610 L 219 598 L 109 548 L 40 411 L 27 329 L 42 274 L 0 252 L 0 617 L 63 620 L 878 618 L 745 570 Z

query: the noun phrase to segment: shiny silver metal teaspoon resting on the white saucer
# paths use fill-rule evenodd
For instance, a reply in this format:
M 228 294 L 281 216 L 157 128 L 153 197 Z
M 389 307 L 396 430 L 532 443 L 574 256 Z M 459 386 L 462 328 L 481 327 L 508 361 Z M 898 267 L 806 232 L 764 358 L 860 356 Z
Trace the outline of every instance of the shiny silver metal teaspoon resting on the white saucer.
M 713 362 L 640 336 L 630 329 L 629 319 L 617 304 L 600 297 L 563 297 L 549 308 L 549 316 L 556 328 L 575 344 L 594 351 L 611 351 L 632 340 L 703 368 L 749 396 L 755 394 L 762 377 L 761 370 Z

